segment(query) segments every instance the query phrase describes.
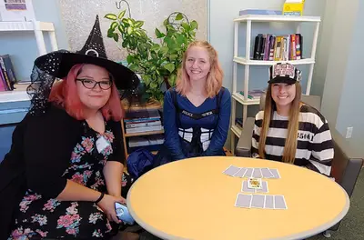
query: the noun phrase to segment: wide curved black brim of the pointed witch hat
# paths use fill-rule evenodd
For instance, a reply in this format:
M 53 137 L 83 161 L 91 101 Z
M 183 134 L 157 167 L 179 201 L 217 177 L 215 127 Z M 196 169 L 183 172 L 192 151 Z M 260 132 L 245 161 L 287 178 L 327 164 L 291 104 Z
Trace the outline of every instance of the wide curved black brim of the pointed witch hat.
M 44 64 L 48 61 L 59 61 L 59 64 L 55 65 L 56 69 L 50 69 L 49 65 Z M 35 65 L 39 69 L 58 78 L 66 77 L 72 66 L 77 64 L 98 65 L 106 68 L 114 76 L 116 88 L 119 90 L 133 89 L 139 85 L 139 78 L 133 71 L 106 58 L 70 52 L 53 52 L 35 59 Z

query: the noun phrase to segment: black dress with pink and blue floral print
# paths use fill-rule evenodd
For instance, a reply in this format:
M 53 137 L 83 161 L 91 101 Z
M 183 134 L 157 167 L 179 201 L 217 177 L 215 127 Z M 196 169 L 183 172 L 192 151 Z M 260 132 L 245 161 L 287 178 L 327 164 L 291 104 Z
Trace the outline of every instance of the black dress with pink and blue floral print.
M 112 143 L 115 136 L 108 125 L 103 135 L 96 133 L 86 122 L 82 125 L 85 128 L 84 135 L 74 147 L 69 167 L 63 176 L 80 185 L 106 193 L 103 167 L 106 165 L 108 156 L 113 153 Z M 96 149 L 96 141 L 100 137 L 104 137 L 110 145 L 99 153 Z M 122 195 L 124 197 L 130 185 L 130 177 L 123 174 Z M 112 227 L 106 215 L 94 203 L 45 199 L 29 189 L 19 204 L 19 210 L 15 213 L 15 225 L 8 239 L 104 238 L 111 230 Z

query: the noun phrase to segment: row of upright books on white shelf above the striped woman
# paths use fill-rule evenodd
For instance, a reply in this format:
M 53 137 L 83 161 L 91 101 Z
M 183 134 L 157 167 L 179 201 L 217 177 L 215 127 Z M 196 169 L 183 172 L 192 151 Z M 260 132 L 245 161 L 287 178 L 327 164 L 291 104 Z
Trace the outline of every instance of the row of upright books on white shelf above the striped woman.
M 258 34 L 254 44 L 254 60 L 288 61 L 302 59 L 302 35 Z

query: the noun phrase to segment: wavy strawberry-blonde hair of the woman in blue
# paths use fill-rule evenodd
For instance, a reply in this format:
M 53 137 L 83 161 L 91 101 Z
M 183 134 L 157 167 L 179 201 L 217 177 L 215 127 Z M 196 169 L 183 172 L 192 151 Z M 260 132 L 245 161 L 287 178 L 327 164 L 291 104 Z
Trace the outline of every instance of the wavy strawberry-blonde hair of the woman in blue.
M 178 69 L 176 90 L 180 95 L 186 95 L 190 89 L 191 83 L 186 71 L 186 59 L 188 50 L 193 46 L 200 46 L 207 49 L 211 67 L 210 72 L 207 75 L 206 92 L 208 97 L 214 97 L 221 89 L 224 73 L 218 62 L 217 51 L 207 41 L 194 41 L 188 45 L 187 50 L 183 55 L 181 68 Z

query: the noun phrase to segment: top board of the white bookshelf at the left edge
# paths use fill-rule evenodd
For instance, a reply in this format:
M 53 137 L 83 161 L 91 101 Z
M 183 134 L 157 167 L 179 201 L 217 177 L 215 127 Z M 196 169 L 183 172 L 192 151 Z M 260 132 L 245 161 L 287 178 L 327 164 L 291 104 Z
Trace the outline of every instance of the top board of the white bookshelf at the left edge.
M 33 22 L 2 22 L 0 21 L 0 32 L 16 31 L 55 31 L 53 23 Z

